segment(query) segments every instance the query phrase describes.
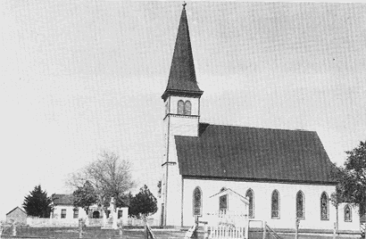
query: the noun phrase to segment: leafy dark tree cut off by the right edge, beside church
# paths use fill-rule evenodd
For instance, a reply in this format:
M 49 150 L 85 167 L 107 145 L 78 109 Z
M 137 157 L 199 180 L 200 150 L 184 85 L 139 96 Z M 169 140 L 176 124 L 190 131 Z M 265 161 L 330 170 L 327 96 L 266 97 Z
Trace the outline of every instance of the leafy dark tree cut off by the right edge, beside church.
M 362 215 L 366 204 L 366 141 L 345 153 L 347 159 L 344 165 L 333 172 L 338 185 L 336 192 L 331 195 L 331 201 L 336 208 L 341 202 L 359 205 Z

